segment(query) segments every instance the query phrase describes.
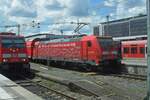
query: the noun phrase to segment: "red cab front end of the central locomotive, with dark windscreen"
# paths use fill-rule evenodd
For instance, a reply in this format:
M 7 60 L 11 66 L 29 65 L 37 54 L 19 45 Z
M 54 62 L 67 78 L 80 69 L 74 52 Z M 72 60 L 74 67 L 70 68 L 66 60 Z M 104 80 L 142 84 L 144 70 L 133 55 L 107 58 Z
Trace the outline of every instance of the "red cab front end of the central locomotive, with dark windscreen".
M 109 36 L 85 36 L 82 38 L 83 59 L 91 64 L 106 65 L 118 64 L 118 47 L 115 45 L 112 37 Z

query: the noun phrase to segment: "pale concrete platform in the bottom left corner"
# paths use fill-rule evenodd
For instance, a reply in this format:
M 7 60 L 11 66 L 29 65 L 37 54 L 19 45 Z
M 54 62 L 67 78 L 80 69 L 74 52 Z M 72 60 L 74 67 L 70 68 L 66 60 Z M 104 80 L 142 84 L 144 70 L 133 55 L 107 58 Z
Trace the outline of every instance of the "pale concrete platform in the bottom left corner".
M 0 74 L 0 100 L 42 100 L 42 98 Z

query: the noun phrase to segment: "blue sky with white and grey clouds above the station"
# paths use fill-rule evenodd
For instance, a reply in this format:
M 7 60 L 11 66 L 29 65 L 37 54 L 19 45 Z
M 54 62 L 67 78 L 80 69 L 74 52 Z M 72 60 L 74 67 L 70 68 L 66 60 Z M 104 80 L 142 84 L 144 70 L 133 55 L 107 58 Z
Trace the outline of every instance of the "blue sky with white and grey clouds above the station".
M 146 14 L 146 0 L 0 0 L 0 31 L 17 32 L 16 27 L 3 26 L 20 24 L 23 35 L 60 30 L 73 34 L 77 24 L 70 22 L 85 22 L 90 24 L 80 32 L 91 34 L 108 15 L 116 20 L 139 14 Z

